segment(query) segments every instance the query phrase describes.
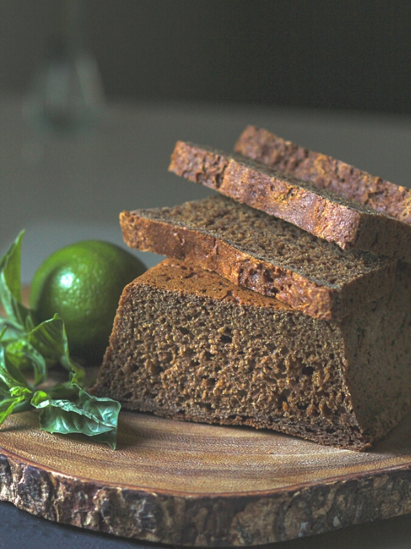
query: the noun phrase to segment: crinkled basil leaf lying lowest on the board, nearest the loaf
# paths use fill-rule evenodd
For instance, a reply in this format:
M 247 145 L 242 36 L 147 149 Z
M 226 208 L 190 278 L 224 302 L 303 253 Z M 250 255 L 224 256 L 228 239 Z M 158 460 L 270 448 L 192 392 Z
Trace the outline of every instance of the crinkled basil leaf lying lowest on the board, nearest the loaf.
M 49 399 L 44 391 L 37 391 L 32 406 L 41 410 L 40 428 L 51 433 L 82 433 L 95 441 L 116 447 L 117 421 L 121 405 L 111 399 L 88 395 L 77 384 L 79 400 Z

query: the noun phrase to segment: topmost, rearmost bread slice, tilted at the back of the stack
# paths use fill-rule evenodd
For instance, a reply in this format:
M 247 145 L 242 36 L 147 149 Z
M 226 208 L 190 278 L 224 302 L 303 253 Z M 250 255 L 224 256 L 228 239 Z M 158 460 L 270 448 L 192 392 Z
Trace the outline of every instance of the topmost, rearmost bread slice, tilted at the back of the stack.
M 411 224 L 411 190 L 358 170 L 331 156 L 285 141 L 268 130 L 247 126 L 236 152 L 273 170 L 309 181 L 369 208 Z

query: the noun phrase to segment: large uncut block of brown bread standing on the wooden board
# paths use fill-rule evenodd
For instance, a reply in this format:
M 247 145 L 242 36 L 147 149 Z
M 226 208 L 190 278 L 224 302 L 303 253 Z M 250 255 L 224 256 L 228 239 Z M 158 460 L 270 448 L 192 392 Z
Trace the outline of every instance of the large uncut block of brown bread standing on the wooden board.
M 411 267 L 341 322 L 175 259 L 127 285 L 93 393 L 128 410 L 365 449 L 411 396 Z

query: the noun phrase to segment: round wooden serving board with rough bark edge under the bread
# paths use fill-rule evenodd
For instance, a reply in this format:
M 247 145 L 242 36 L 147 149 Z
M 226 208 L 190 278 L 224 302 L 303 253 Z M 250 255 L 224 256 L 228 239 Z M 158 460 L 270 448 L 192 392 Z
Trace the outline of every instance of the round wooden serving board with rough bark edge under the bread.
M 372 452 L 122 412 L 118 447 L 0 430 L 0 498 L 64 524 L 166 544 L 267 544 L 411 512 L 411 415 Z

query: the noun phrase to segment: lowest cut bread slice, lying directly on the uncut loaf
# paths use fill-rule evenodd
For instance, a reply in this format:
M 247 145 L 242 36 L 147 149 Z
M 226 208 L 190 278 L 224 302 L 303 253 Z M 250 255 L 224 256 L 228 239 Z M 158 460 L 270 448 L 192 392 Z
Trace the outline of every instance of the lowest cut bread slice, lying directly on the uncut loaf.
M 395 259 L 343 251 L 225 196 L 124 211 L 120 220 L 128 246 L 189 259 L 314 318 L 343 318 L 393 288 Z

